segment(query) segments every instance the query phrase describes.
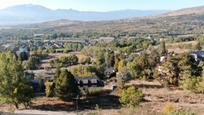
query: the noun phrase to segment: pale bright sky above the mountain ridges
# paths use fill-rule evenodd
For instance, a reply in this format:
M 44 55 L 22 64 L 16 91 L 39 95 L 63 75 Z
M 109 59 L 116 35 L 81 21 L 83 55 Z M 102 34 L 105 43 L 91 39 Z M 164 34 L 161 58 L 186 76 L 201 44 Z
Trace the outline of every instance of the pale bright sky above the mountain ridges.
M 204 0 L 0 0 L 0 9 L 21 4 L 36 4 L 50 9 L 80 11 L 177 10 L 204 6 Z

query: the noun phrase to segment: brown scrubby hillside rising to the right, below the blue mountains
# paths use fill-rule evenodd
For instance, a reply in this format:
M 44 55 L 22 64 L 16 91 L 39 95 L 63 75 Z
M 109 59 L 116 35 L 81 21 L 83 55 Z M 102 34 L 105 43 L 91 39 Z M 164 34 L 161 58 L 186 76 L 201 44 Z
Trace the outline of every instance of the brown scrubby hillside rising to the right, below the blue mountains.
M 112 21 L 56 20 L 4 27 L 1 35 L 33 33 L 114 33 L 130 32 L 160 35 L 204 34 L 204 7 L 181 9 L 157 16 Z M 17 34 L 17 35 L 18 35 Z

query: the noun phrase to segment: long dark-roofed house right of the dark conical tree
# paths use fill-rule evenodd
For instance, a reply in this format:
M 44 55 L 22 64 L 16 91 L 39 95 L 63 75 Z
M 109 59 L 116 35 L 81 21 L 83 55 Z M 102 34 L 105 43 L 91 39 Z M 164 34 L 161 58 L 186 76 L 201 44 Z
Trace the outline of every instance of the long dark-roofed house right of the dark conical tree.
M 97 76 L 76 77 L 77 84 L 80 87 L 103 87 L 103 81 Z

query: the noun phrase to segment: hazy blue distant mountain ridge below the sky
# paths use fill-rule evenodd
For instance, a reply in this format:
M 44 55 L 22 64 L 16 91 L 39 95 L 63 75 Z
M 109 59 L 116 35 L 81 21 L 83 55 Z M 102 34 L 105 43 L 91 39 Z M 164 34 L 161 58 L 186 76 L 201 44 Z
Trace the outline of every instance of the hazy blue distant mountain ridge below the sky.
M 133 17 L 153 16 L 166 10 L 119 10 L 109 12 L 77 11 L 72 9 L 51 10 L 39 5 L 17 5 L 0 10 L 0 25 L 30 24 L 60 19 L 79 21 L 119 20 Z

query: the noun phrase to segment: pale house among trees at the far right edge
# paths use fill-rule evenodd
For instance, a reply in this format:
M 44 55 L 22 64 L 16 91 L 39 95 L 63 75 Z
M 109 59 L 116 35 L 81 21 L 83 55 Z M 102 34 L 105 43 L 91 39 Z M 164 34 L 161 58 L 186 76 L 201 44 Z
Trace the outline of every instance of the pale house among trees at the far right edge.
M 204 61 L 204 51 L 193 51 L 190 53 L 190 56 L 193 56 L 196 62 Z

